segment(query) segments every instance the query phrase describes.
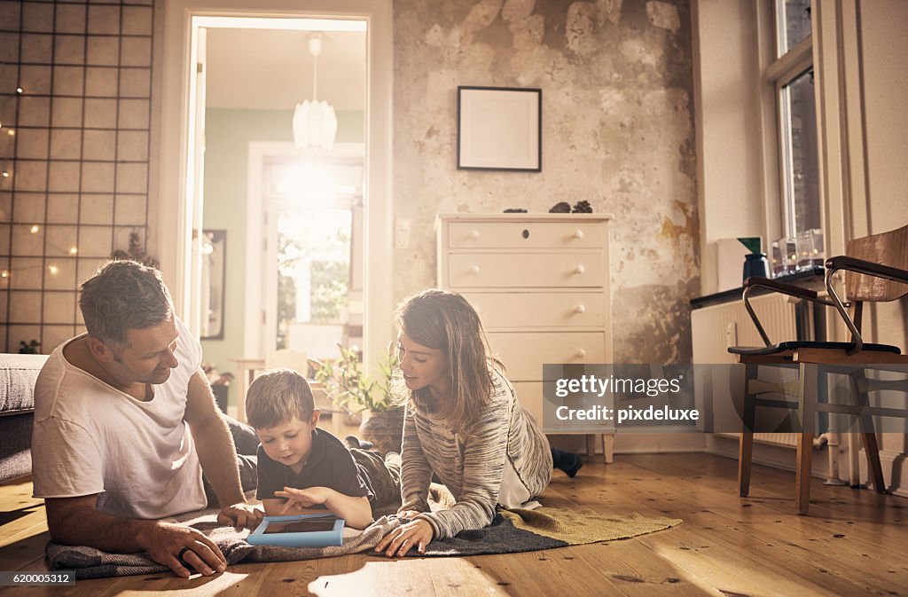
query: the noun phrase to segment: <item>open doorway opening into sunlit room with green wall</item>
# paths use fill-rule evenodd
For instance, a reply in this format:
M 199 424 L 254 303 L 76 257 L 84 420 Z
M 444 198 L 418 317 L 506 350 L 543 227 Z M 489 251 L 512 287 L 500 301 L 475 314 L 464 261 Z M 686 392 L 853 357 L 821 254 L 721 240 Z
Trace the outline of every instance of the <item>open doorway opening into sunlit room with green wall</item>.
M 230 17 L 202 24 L 202 229 L 226 232 L 237 272 L 224 307 L 236 332 L 202 336 L 206 358 L 267 363 L 287 349 L 325 358 L 337 353 L 335 343 L 361 344 L 363 288 L 351 265 L 361 273 L 362 264 L 351 240 L 364 234 L 353 212 L 361 215 L 364 203 L 367 24 L 293 19 L 283 24 L 293 29 L 273 29 Z M 317 58 L 307 51 L 314 35 Z M 336 114 L 335 141 L 297 147 L 293 108 L 316 97 Z M 203 322 L 212 309 L 200 307 Z

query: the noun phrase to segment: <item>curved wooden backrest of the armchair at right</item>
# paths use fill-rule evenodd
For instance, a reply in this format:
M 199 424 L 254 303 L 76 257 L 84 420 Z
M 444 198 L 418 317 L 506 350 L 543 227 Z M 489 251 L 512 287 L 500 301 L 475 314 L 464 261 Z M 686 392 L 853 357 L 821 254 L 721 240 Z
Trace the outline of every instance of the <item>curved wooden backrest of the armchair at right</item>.
M 855 238 L 848 243 L 845 254 L 874 264 L 908 270 L 908 225 L 882 234 Z M 894 301 L 908 294 L 908 284 L 845 272 L 845 292 L 850 301 Z

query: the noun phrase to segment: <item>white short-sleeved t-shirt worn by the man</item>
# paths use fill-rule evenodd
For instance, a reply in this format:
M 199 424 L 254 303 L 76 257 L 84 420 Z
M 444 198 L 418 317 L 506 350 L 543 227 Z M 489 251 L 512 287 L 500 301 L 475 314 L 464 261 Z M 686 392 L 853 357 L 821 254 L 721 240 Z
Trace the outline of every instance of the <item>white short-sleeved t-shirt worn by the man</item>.
M 183 414 L 202 349 L 176 319 L 179 365 L 148 402 L 85 373 L 57 346 L 35 383 L 35 497 L 98 493 L 99 512 L 156 519 L 204 508 L 202 467 Z M 79 336 L 84 337 L 84 336 Z M 74 339 L 75 340 L 75 339 Z

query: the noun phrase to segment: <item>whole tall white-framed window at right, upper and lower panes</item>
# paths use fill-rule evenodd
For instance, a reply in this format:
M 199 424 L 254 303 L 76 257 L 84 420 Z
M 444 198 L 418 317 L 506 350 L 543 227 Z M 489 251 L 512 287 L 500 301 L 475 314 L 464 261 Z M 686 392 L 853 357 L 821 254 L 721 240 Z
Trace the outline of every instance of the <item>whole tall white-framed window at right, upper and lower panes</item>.
M 822 238 L 810 0 L 775 0 L 775 84 L 781 234 Z M 822 247 L 818 247 L 822 252 Z

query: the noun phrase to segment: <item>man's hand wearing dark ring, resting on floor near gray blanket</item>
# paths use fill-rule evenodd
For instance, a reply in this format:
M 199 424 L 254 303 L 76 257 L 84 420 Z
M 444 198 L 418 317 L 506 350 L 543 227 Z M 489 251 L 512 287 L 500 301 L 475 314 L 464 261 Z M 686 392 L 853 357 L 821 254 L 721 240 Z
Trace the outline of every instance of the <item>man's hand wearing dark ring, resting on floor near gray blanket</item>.
M 223 572 L 227 568 L 227 560 L 218 546 L 192 527 L 156 522 L 140 541 L 152 560 L 169 566 L 174 574 L 183 578 L 189 578 L 191 573 L 184 563 L 204 576 Z

